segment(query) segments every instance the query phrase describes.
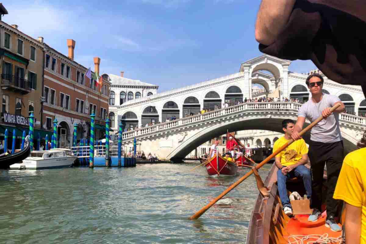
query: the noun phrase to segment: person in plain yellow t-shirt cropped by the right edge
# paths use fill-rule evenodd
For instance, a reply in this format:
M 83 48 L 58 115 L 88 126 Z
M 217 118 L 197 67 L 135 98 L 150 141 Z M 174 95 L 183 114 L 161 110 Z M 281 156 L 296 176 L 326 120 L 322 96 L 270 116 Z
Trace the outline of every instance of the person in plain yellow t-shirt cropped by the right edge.
M 366 131 L 343 160 L 333 198 L 346 202 L 346 243 L 366 244 Z

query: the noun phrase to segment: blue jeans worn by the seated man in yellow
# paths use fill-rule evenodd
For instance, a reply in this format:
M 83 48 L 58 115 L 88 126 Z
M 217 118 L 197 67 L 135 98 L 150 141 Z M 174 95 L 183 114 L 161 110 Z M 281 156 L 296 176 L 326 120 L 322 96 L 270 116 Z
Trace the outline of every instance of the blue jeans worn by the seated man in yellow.
M 290 199 L 288 199 L 287 195 L 286 180 L 291 179 L 295 176 L 302 177 L 306 194 L 309 197 L 311 196 L 311 175 L 310 170 L 308 168 L 306 168 L 304 165 L 299 165 L 295 169 L 293 169 L 290 173 L 287 173 L 287 175 L 283 175 L 281 170 L 279 169 L 277 171 L 277 185 L 283 207 L 285 206 L 291 207 Z

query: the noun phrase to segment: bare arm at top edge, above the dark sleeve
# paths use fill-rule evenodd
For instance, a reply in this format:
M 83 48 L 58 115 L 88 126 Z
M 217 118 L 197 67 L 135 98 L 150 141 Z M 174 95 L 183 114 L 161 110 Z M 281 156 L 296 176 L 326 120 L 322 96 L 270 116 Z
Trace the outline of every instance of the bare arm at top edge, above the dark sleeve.
M 255 22 L 255 39 L 264 45 L 275 42 L 290 18 L 296 0 L 262 0 Z

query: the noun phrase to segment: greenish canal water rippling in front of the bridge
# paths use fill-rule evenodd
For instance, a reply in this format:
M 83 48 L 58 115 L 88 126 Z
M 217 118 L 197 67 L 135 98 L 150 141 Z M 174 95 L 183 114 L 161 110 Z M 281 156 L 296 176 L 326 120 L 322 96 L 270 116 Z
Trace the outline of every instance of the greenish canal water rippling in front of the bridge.
M 217 178 L 198 164 L 1 170 L 0 243 L 243 243 L 254 176 L 191 221 L 249 170 Z

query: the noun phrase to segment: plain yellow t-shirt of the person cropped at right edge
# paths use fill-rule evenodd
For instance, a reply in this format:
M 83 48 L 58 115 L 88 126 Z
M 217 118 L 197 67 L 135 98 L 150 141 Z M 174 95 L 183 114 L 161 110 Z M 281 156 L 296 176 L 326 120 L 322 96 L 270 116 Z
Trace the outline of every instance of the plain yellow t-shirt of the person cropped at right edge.
M 362 207 L 361 244 L 366 244 L 366 148 L 348 153 L 343 160 L 333 198 Z

